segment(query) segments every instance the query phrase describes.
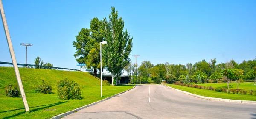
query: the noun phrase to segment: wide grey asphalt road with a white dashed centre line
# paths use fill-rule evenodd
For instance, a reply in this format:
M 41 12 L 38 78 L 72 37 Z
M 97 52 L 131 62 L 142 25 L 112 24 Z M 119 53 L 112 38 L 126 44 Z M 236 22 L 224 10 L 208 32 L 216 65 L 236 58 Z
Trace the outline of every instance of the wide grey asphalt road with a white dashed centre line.
M 161 85 L 139 85 L 63 119 L 256 119 L 256 105 L 204 100 Z

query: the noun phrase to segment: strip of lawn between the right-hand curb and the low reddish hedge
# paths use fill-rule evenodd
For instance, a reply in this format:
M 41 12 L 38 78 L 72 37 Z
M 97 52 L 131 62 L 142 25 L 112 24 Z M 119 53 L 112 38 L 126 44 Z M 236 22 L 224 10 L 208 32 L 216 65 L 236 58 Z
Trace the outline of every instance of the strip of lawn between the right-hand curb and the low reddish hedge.
M 256 101 L 255 95 L 244 95 L 244 94 L 229 94 L 224 92 L 216 92 L 211 90 L 204 90 L 204 89 L 197 89 L 192 87 L 174 85 L 174 84 L 166 84 L 166 86 L 170 86 L 175 89 L 179 89 L 182 91 L 186 91 L 192 94 L 197 94 L 206 97 L 216 97 L 216 98 L 223 98 L 223 99 L 232 99 L 232 100 L 253 100 Z

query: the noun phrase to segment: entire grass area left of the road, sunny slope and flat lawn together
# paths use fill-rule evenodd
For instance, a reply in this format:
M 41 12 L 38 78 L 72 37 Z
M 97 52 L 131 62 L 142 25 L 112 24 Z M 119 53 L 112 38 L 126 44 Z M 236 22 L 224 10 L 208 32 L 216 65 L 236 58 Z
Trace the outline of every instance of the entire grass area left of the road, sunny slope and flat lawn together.
M 12 67 L 0 67 L 0 119 L 46 119 L 60 113 L 71 111 L 81 106 L 102 100 L 114 94 L 131 89 L 133 86 L 103 86 L 100 96 L 100 80 L 86 72 L 56 71 L 46 69 L 19 68 L 29 113 L 25 113 L 21 97 L 7 97 L 4 87 L 16 84 L 17 80 Z M 67 77 L 79 83 L 83 92 L 82 100 L 59 100 L 57 98 L 57 82 Z M 52 85 L 53 94 L 35 93 L 34 89 L 42 83 Z M 105 84 L 105 83 L 103 83 Z

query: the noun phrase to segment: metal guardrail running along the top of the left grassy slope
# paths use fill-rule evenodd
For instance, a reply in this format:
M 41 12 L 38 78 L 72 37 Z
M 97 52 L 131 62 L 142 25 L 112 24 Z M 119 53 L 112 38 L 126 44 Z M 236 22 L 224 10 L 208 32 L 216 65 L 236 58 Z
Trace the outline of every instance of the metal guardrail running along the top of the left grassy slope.
M 0 64 L 9 64 L 9 65 L 13 65 L 11 62 L 2 62 L 0 61 Z M 63 69 L 63 70 L 73 70 L 73 71 L 80 71 L 81 70 L 78 70 L 78 69 L 70 69 L 70 68 L 63 68 L 63 67 L 55 67 L 55 66 L 40 66 L 40 65 L 33 65 L 33 64 L 20 64 L 20 63 L 17 63 L 18 66 L 34 66 L 34 67 L 39 67 L 39 68 L 49 68 L 49 69 Z

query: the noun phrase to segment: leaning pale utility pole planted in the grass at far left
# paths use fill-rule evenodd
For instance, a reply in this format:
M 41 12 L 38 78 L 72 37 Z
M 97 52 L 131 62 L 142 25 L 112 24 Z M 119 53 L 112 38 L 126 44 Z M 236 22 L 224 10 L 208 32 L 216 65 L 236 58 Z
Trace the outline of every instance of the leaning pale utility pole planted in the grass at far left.
M 19 69 L 18 69 L 17 61 L 16 61 L 15 54 L 14 54 L 14 50 L 13 50 L 13 47 L 12 47 L 11 36 L 10 36 L 9 29 L 8 29 L 8 26 L 7 26 L 6 17 L 5 17 L 4 11 L 3 11 L 2 0 L 0 0 L 0 11 L 1 11 L 1 17 L 2 17 L 2 22 L 3 22 L 3 28 L 4 28 L 4 31 L 5 31 L 5 34 L 6 34 L 6 39 L 7 39 L 7 43 L 8 43 L 8 46 L 9 46 L 9 51 L 10 51 L 10 54 L 11 54 L 11 57 L 12 57 L 12 64 L 13 64 L 13 67 L 14 67 L 14 70 L 15 70 L 15 75 L 16 75 L 16 78 L 17 78 L 17 82 L 18 82 L 18 85 L 19 85 L 19 88 L 20 88 L 20 94 L 21 94 L 21 97 L 22 97 L 22 100 L 23 100 L 25 110 L 29 111 L 29 105 L 28 105 L 28 102 L 26 100 L 26 95 L 25 95 L 23 85 L 22 85 L 22 82 L 21 82 L 20 72 L 19 72 Z

